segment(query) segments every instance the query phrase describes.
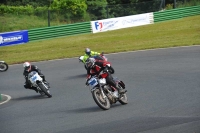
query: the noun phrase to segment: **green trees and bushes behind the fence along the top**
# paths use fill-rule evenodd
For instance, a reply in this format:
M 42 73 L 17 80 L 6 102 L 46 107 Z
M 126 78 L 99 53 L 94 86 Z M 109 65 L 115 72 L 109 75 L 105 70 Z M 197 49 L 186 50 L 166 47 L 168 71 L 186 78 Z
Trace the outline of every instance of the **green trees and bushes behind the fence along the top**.
M 156 12 L 175 1 L 196 0 L 1 0 L 0 14 L 47 19 L 48 11 L 49 19 L 78 22 Z

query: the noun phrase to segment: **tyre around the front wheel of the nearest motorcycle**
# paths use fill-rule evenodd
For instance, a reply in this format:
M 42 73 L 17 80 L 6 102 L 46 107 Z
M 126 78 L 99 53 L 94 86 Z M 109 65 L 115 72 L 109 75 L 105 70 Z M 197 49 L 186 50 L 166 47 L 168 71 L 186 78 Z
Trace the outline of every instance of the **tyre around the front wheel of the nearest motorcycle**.
M 96 104 L 97 104 L 101 109 L 103 109 L 103 110 L 108 110 L 108 109 L 110 109 L 110 101 L 108 100 L 108 98 L 107 98 L 107 97 L 105 98 L 106 105 L 104 105 L 104 104 L 102 104 L 102 103 L 100 102 L 100 100 L 99 100 L 99 98 L 98 98 L 98 96 L 97 96 L 98 94 L 101 95 L 101 92 L 100 92 L 99 89 L 96 89 L 96 90 L 92 91 L 92 96 L 93 96 L 93 99 L 94 99 L 94 101 L 96 102 Z

